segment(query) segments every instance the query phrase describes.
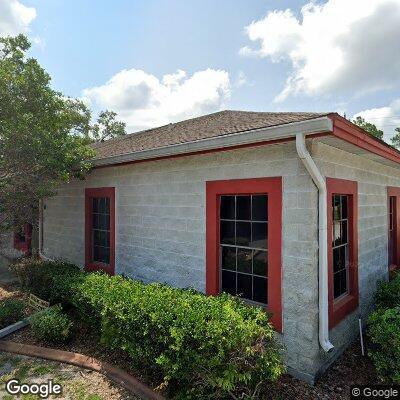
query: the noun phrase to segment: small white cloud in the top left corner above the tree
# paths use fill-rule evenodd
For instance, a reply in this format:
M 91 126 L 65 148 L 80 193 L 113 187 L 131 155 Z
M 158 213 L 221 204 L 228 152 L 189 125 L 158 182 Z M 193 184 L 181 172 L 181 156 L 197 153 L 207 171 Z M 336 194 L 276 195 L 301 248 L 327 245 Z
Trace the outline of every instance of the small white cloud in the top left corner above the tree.
M 36 10 L 18 0 L 0 0 L 0 36 L 26 33 L 36 18 Z

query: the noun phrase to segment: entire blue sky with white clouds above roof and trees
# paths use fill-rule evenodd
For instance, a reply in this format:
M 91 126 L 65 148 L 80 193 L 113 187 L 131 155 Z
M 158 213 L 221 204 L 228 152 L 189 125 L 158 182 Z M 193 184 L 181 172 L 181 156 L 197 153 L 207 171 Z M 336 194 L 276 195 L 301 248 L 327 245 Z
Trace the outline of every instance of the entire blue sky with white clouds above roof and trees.
M 400 126 L 400 0 L 0 0 L 52 85 L 128 132 L 223 110 Z

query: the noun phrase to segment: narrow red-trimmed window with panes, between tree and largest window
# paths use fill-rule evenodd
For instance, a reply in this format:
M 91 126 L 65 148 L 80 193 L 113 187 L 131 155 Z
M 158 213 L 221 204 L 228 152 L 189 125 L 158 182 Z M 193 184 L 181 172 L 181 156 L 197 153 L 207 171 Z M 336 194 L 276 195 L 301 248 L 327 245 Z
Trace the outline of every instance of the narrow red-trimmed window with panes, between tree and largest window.
M 115 189 L 86 189 L 85 192 L 86 269 L 115 270 Z

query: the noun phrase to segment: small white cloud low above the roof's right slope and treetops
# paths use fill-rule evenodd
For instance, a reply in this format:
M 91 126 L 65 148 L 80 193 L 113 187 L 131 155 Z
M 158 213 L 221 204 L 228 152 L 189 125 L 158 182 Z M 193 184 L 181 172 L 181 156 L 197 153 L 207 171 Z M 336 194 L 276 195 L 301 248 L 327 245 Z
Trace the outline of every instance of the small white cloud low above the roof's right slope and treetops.
M 392 101 L 388 106 L 370 108 L 355 114 L 356 117 L 363 117 L 367 122 L 375 124 L 384 132 L 384 139 L 390 142 L 390 138 L 395 133 L 395 128 L 400 127 L 400 99 Z

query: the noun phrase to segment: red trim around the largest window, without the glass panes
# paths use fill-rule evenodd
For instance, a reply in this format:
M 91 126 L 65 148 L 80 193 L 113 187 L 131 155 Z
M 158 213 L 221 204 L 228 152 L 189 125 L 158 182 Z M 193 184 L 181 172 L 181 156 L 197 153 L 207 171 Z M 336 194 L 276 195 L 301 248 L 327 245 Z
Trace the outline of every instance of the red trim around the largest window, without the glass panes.
M 268 194 L 268 311 L 282 331 L 282 178 L 235 179 L 206 184 L 206 293 L 217 295 L 219 282 L 219 202 L 226 194 Z

